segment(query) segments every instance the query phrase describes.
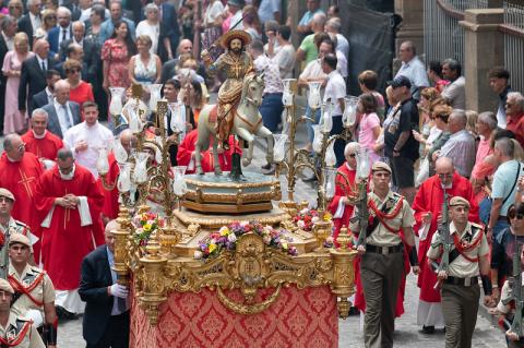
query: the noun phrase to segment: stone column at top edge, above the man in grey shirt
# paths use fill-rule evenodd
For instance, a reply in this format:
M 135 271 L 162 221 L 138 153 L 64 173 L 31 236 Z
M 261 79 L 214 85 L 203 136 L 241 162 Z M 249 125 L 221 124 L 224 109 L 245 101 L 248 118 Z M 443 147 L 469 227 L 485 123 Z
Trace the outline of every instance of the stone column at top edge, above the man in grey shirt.
M 424 1 L 395 0 L 395 13 L 402 17 L 398 33 L 396 33 L 395 53 L 403 41 L 413 41 L 417 55 L 424 51 Z

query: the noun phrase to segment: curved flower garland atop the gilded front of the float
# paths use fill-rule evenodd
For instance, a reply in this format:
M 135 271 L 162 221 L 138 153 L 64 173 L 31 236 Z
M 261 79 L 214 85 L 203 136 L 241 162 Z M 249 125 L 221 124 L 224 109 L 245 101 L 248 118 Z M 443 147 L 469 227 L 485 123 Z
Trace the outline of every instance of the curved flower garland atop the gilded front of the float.
M 194 252 L 194 259 L 211 259 L 217 256 L 222 250 L 235 250 L 237 240 L 242 235 L 253 232 L 262 237 L 267 247 L 279 249 L 289 255 L 297 255 L 297 249 L 289 245 L 291 238 L 285 237 L 285 229 L 275 229 L 263 226 L 258 221 L 236 221 L 229 226 L 223 226 L 217 232 L 211 233 L 199 242 L 199 249 Z

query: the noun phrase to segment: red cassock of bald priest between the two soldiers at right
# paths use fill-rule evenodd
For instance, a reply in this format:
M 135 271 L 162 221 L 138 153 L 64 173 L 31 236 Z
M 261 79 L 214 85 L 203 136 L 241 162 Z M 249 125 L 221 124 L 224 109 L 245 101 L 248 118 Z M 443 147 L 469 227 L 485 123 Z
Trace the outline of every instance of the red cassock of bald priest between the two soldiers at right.
M 415 211 L 414 231 L 418 236 L 422 226 L 422 216 L 431 212 L 431 226 L 429 227 L 425 240 L 418 243 L 418 263 L 420 264 L 420 274 L 418 275 L 418 287 L 420 288 L 420 300 L 426 302 L 440 302 L 440 289 L 433 289 L 437 283 L 437 274 L 429 268 L 428 257 L 426 256 L 431 239 L 437 231 L 437 218 L 442 212 L 443 189 L 438 176 L 426 180 L 418 189 L 413 209 Z M 475 193 L 469 180 L 460 176 L 456 171 L 453 173 L 451 189 L 446 190 L 448 199 L 458 195 L 466 199 L 471 204 L 469 221 L 478 221 L 478 205 L 475 201 Z M 420 236 L 418 236 L 420 237 Z

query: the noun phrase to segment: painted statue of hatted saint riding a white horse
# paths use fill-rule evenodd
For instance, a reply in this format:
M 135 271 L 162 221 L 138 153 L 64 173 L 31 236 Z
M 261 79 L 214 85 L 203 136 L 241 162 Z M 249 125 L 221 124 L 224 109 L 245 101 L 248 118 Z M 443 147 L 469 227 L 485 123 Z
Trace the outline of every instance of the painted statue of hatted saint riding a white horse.
M 217 142 L 228 148 L 229 134 L 237 134 L 248 142 L 248 155 L 243 159 L 247 166 L 252 159 L 254 135 L 267 139 L 267 158 L 273 161 L 273 134 L 262 124 L 259 106 L 264 91 L 263 76 L 254 73 L 252 60 L 243 51 L 251 36 L 243 31 L 230 31 L 222 37 L 222 46 L 227 51 L 215 62 L 203 50 L 201 56 L 210 74 L 224 71 L 227 80 L 218 91 L 217 106 L 205 107 L 199 118 L 199 141 L 195 148 L 196 172 L 200 167 L 200 149 L 207 148 L 210 135 L 214 141 L 213 152 L 217 156 Z M 235 166 L 234 166 L 235 168 Z M 233 170 L 231 170 L 233 171 Z M 215 160 L 215 173 L 222 173 L 218 160 Z M 231 173 L 234 177 L 238 177 Z

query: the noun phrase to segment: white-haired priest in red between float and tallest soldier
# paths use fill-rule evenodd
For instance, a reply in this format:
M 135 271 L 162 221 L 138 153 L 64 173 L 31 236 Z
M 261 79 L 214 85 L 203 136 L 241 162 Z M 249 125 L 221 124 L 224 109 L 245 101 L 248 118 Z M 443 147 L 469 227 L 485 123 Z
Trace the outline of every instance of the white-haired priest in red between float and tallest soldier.
M 338 167 L 335 179 L 335 195 L 331 201 L 329 211 L 333 215 L 335 227 L 333 239 L 336 240 L 343 226 L 349 227 L 349 218 L 353 215 L 354 206 L 349 204 L 348 196 L 355 194 L 355 176 L 357 173 L 357 153 L 360 145 L 356 142 L 349 143 L 344 148 L 346 161 Z

